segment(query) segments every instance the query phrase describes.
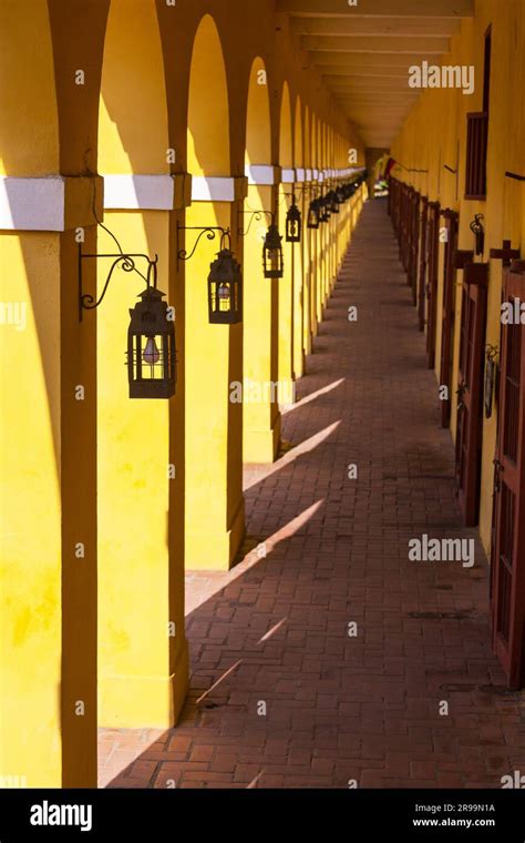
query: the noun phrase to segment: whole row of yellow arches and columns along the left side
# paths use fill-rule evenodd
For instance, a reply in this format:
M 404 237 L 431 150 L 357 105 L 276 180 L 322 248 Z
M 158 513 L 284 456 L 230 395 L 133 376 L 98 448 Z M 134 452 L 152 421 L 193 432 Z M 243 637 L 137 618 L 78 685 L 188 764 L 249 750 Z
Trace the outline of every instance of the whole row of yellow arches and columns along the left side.
M 176 722 L 188 682 L 185 569 L 227 569 L 245 531 L 243 461 L 279 448 L 278 399 L 230 385 L 305 370 L 364 187 L 319 231 L 318 189 L 364 151 L 268 0 L 4 0 L 0 8 L 2 667 L 0 775 L 96 783 L 96 727 Z M 253 26 L 254 14 L 258 24 Z M 276 24 L 279 26 L 276 26 Z M 313 84 L 316 81 L 316 84 Z M 300 244 L 282 280 L 261 272 L 264 221 Z M 115 271 L 79 321 L 84 253 L 158 255 L 174 307 L 177 392 L 130 400 L 128 309 L 144 288 Z M 206 278 L 230 230 L 244 322 L 212 325 Z M 261 231 L 262 228 L 262 231 Z M 111 263 L 111 262 L 110 262 Z M 83 264 L 104 291 L 109 263 Z M 282 282 L 282 284 L 281 284 Z M 23 722 L 23 730 L 17 723 Z

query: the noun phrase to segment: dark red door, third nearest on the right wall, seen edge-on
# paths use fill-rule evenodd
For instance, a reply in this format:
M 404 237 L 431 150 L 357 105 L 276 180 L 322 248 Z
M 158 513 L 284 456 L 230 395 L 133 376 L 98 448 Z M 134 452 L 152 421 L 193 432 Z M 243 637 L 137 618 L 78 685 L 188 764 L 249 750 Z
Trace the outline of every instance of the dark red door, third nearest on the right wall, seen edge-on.
M 449 427 L 451 423 L 451 389 L 452 389 L 452 347 L 454 336 L 455 311 L 455 253 L 457 250 L 459 216 L 449 209 L 443 212 L 446 226 L 445 254 L 443 262 L 443 303 L 441 311 L 441 360 L 440 385 L 446 386 L 449 397 L 441 400 L 441 426 Z

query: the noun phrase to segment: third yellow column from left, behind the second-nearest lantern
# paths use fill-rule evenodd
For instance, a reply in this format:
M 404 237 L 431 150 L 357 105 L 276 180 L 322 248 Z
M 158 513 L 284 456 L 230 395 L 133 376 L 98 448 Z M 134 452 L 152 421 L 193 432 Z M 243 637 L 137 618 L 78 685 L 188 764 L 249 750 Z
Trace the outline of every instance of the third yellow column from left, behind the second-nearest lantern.
M 226 202 L 194 202 L 187 209 L 186 225 L 229 227 L 236 224 L 235 209 Z M 198 232 L 186 233 L 188 251 L 197 235 Z M 243 382 L 243 325 L 208 322 L 207 277 L 219 247 L 218 240 L 210 243 L 203 237 L 191 261 L 179 265 L 185 297 L 179 357 L 185 380 L 187 569 L 227 570 L 245 530 L 243 405 L 235 388 Z M 240 262 L 235 237 L 233 248 Z M 245 288 L 246 281 L 245 275 Z

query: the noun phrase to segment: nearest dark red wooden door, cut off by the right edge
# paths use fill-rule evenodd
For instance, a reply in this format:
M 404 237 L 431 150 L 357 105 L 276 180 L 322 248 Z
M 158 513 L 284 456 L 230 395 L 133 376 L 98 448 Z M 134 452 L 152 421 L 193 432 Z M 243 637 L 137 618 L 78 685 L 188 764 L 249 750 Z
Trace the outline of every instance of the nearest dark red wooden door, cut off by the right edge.
M 504 271 L 503 301 L 525 301 L 525 274 Z M 525 327 L 502 325 L 494 484 L 492 629 L 511 688 L 525 680 Z

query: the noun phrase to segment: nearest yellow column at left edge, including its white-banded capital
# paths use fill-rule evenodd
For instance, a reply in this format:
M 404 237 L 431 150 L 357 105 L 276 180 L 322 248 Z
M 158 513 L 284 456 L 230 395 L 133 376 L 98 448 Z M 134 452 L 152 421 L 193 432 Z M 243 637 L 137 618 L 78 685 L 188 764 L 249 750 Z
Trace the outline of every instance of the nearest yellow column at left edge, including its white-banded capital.
M 22 181 L 13 220 L 40 230 L 0 235 L 0 775 L 96 786 L 96 324 L 78 319 L 73 228 L 91 223 L 91 181 L 59 197 L 56 179 L 41 203 Z M 66 231 L 33 225 L 54 211 Z

